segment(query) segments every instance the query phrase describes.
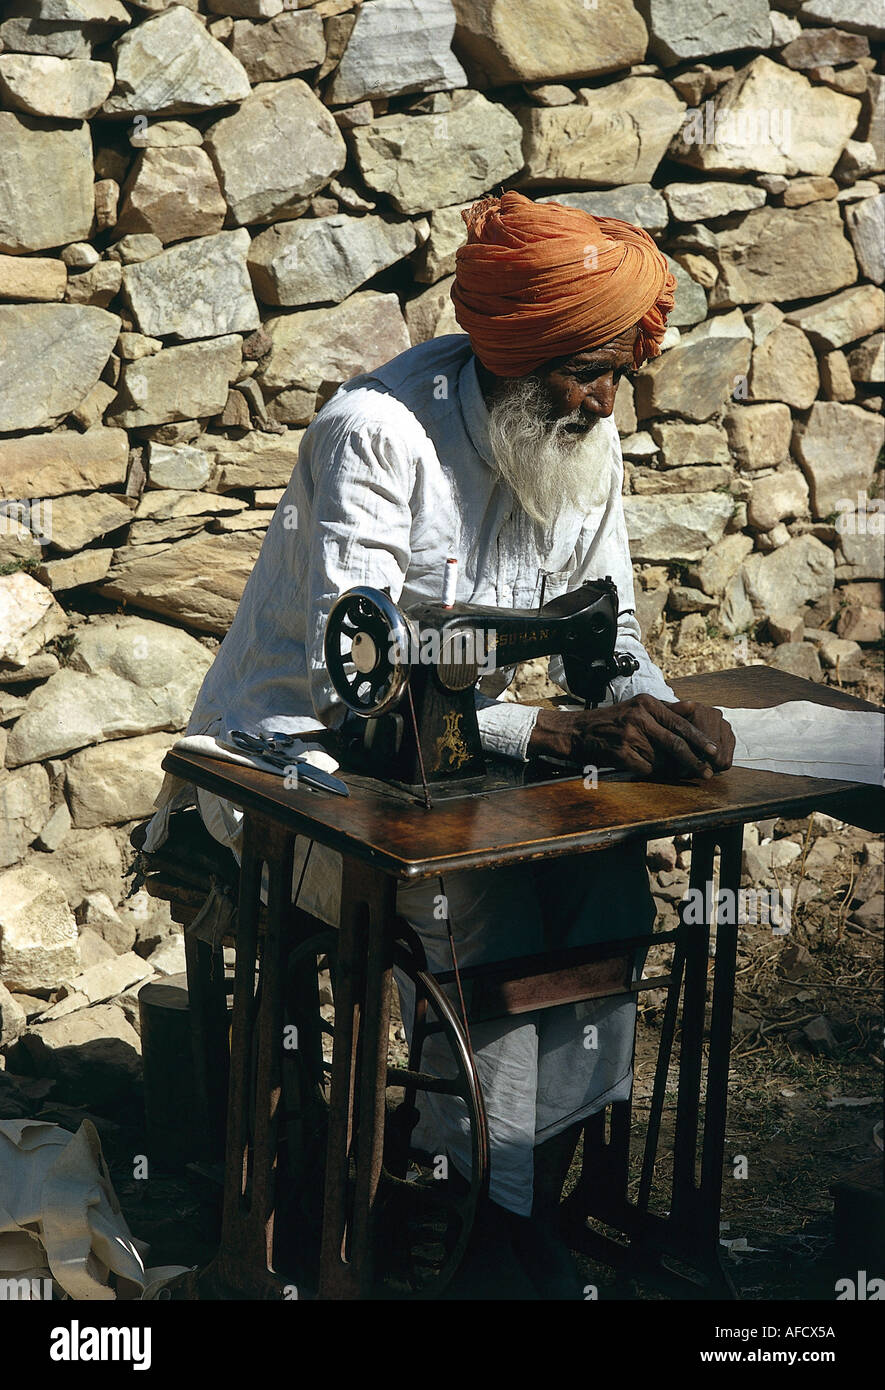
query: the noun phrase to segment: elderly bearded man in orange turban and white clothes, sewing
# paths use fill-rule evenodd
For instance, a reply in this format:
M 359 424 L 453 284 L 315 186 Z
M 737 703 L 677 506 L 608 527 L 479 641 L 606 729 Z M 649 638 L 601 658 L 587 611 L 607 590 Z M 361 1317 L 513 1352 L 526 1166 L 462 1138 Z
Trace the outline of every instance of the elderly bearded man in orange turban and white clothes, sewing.
M 672 275 L 646 232 L 611 218 L 515 192 L 464 215 L 453 300 L 468 336 L 413 348 L 320 411 L 189 733 L 225 742 L 233 728 L 307 737 L 340 724 L 322 655 L 336 596 L 367 584 L 404 606 L 439 599 L 456 556 L 457 599 L 502 607 L 610 574 L 618 648 L 639 663 L 596 710 L 479 694 L 488 753 L 711 777 L 731 763 L 731 730 L 717 710 L 679 703 L 640 642 L 613 421 L 620 379 L 660 352 Z M 565 688 L 559 662 L 552 676 Z M 240 813 L 203 791 L 197 802 L 236 851 Z M 339 873 L 315 847 L 304 891 L 332 922 Z M 438 892 L 403 887 L 397 908 L 439 972 L 452 958 Z M 452 874 L 445 897 L 461 965 L 635 935 L 653 920 L 640 849 Z M 634 1005 L 602 999 L 472 1029 L 492 1145 L 486 1226 L 547 1293 L 568 1286 L 532 1216 L 559 1200 L 581 1123 L 629 1094 L 634 1022 Z M 425 1061 L 445 1065 L 432 1049 Z M 422 1126 L 467 1175 L 460 1102 L 428 1098 Z

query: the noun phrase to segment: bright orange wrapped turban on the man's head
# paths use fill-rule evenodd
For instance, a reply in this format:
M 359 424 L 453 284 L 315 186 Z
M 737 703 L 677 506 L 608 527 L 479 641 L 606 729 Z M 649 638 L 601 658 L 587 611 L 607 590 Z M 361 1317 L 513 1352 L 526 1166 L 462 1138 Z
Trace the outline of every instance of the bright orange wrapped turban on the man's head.
M 496 377 L 525 377 L 636 322 L 635 364 L 660 354 L 677 282 L 642 228 L 514 192 L 461 217 L 454 316 Z

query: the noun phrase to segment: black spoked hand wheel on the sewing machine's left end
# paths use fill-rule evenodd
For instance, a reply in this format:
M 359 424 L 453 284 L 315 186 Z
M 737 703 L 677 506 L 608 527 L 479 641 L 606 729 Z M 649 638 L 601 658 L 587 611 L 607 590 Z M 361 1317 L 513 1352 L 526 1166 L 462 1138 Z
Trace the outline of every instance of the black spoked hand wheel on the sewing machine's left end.
M 411 641 L 407 619 L 382 589 L 358 585 L 335 600 L 324 655 L 347 709 L 371 719 L 399 703 L 408 684 Z

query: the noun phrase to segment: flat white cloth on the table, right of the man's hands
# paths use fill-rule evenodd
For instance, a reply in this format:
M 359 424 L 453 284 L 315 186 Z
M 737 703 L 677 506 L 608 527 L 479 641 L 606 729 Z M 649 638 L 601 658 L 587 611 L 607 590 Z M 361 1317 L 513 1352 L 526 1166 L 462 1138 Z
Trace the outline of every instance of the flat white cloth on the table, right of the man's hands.
M 735 767 L 882 785 L 885 714 L 807 699 L 722 714 L 735 734 Z

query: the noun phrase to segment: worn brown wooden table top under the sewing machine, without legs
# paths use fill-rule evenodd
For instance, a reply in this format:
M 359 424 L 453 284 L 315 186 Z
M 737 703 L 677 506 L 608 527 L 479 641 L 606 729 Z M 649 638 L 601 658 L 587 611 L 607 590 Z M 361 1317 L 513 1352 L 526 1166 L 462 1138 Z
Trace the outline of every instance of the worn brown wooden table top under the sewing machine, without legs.
M 807 699 L 842 709 L 875 709 L 843 691 L 767 666 L 671 681 L 681 699 L 768 708 Z M 818 777 L 732 767 L 709 781 L 606 781 L 581 777 L 438 801 L 432 809 L 386 792 L 383 784 L 343 780 L 350 796 L 288 791 L 282 777 L 197 753 L 167 753 L 163 767 L 297 834 L 367 860 L 397 878 L 427 878 L 554 855 L 606 849 L 772 816 L 827 810 L 870 830 L 885 824 L 881 788 Z

